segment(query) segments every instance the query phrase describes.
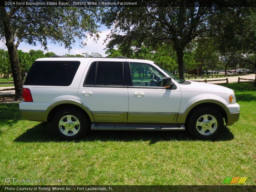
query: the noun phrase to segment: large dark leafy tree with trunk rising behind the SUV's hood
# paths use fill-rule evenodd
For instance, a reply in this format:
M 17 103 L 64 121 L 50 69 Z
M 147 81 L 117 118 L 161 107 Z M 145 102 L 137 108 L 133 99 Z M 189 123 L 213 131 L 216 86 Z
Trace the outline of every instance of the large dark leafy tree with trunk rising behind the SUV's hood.
M 147 1 L 148 4 L 153 3 Z M 177 55 L 180 78 L 184 79 L 184 49 L 187 44 L 210 29 L 207 24 L 213 9 L 204 6 L 204 1 L 184 7 L 182 1 L 176 7 L 111 7 L 104 12 L 102 21 L 113 26 L 109 48 L 119 44 L 127 51 L 136 40 L 142 44 L 158 46 L 173 44 Z M 154 2 L 156 3 L 156 2 Z M 180 5 L 180 6 L 179 6 Z

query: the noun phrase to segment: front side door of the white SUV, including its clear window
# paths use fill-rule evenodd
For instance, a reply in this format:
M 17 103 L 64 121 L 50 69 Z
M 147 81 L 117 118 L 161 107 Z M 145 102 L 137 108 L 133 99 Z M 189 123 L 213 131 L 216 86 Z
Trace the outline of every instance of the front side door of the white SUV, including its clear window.
M 176 123 L 180 87 L 162 86 L 164 74 L 147 63 L 130 63 L 132 86 L 128 86 L 128 123 Z M 129 76 L 128 76 L 129 78 Z

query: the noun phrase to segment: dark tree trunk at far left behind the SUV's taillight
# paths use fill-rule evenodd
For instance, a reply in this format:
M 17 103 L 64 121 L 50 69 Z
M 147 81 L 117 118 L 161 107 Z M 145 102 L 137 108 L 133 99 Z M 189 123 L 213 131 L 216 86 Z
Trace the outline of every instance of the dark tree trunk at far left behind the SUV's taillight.
M 15 87 L 15 101 L 22 100 L 23 81 L 21 78 L 17 47 L 14 44 L 15 39 L 14 39 L 14 32 L 12 31 L 13 29 L 11 26 L 11 21 L 4 7 L 1 7 L 1 19 L 4 26 L 4 35 L 5 35 L 5 41 L 6 41 L 5 45 L 7 46 L 9 57 L 10 57 L 12 76 L 13 76 L 13 82 Z

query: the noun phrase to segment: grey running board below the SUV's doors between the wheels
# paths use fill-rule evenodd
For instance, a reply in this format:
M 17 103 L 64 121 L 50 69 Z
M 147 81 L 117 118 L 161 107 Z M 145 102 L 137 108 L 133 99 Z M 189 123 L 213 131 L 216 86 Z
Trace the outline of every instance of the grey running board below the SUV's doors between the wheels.
M 184 124 L 92 123 L 91 130 L 184 131 Z

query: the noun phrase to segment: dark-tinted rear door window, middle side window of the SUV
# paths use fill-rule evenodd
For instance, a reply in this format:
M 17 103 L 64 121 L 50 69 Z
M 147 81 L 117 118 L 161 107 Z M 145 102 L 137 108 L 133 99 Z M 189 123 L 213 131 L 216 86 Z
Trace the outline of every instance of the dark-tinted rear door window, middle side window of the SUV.
M 123 62 L 93 62 L 84 85 L 124 85 Z

